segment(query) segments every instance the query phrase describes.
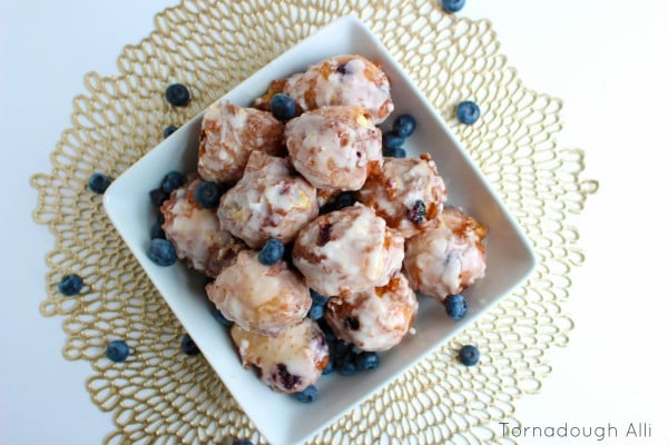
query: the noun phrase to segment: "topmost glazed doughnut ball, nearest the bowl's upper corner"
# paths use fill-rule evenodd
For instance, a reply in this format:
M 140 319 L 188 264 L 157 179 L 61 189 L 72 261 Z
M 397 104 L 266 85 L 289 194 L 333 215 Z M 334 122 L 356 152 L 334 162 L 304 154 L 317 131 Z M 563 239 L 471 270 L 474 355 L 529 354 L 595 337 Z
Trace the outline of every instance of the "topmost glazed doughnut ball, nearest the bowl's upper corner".
M 338 71 L 337 71 L 338 70 Z M 387 76 L 362 56 L 337 56 L 287 79 L 284 93 L 302 110 L 341 105 L 364 107 L 373 123 L 392 112 Z

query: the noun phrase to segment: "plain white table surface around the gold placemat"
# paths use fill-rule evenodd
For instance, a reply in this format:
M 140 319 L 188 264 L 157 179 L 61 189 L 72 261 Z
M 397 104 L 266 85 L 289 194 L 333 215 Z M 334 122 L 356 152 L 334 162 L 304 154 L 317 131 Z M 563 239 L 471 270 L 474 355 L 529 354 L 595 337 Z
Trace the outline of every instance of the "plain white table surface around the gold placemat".
M 45 255 L 32 221 L 35 172 L 70 125 L 87 71 L 117 72 L 121 48 L 176 1 L 0 0 L 0 444 L 97 444 L 112 429 L 85 388 L 89 365 L 61 356 L 59 317 L 45 318 Z M 532 89 L 563 99 L 559 147 L 586 151 L 600 190 L 574 219 L 587 253 L 564 305 L 576 320 L 538 395 L 515 403 L 524 426 L 596 427 L 617 438 L 528 444 L 668 444 L 668 7 L 659 0 L 469 0 Z M 651 436 L 623 437 L 629 423 Z M 501 432 L 501 425 L 495 426 Z

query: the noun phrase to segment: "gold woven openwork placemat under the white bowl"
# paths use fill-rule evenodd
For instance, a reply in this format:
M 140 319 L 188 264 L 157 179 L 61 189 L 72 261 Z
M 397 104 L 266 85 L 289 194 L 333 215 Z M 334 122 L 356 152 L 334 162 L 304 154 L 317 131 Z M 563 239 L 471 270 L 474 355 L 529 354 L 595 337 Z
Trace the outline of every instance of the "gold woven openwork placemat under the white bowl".
M 499 421 L 513 400 L 537 392 L 550 373 L 553 346 L 573 328 L 563 313 L 570 270 L 582 264 L 570 221 L 597 182 L 583 180 L 583 154 L 557 146 L 561 102 L 524 87 L 500 53 L 492 26 L 444 13 L 421 0 L 185 0 L 159 13 L 156 30 L 118 58 L 120 76 L 88 73 L 73 101 L 72 127 L 38 174 L 35 219 L 49 226 L 45 316 L 63 318 L 68 359 L 88 360 L 91 398 L 114 416 L 109 444 L 210 444 L 259 434 L 204 358 L 179 350 L 183 328 L 87 189 L 95 171 L 118 177 L 180 125 L 295 42 L 343 14 L 358 16 L 379 36 L 500 192 L 536 248 L 530 280 L 449 346 L 331 425 L 313 443 L 512 443 Z M 165 87 L 188 85 L 185 109 L 164 102 Z M 482 109 L 458 125 L 454 105 Z M 138 191 L 139 192 L 139 191 Z M 85 291 L 63 297 L 61 277 L 84 277 Z M 105 358 L 126 338 L 135 354 Z M 454 364 L 461 344 L 481 350 L 477 367 Z

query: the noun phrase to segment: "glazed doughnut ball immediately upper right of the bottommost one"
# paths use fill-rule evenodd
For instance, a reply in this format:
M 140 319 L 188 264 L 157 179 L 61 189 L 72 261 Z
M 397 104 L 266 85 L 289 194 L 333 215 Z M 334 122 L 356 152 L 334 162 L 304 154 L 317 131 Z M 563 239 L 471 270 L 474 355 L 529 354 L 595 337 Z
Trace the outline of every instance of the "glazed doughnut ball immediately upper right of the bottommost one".
M 384 287 L 331 298 L 325 317 L 338 338 L 363 350 L 387 350 L 406 335 L 416 312 L 415 293 L 397 274 Z

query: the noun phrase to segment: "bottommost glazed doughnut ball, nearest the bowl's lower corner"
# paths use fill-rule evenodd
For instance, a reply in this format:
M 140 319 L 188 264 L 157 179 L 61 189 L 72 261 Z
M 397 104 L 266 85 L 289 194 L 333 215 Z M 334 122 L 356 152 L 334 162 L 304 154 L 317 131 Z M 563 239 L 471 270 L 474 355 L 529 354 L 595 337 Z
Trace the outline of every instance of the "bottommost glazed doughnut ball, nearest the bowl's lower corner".
M 296 393 L 314 385 L 328 360 L 325 337 L 317 324 L 306 318 L 277 337 L 232 327 L 245 367 L 257 366 L 262 380 L 282 393 Z M 279 366 L 284 366 L 283 374 Z

